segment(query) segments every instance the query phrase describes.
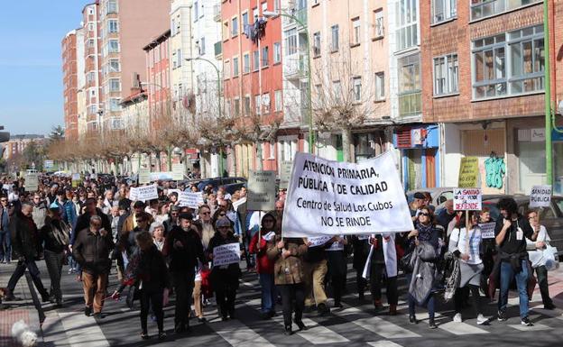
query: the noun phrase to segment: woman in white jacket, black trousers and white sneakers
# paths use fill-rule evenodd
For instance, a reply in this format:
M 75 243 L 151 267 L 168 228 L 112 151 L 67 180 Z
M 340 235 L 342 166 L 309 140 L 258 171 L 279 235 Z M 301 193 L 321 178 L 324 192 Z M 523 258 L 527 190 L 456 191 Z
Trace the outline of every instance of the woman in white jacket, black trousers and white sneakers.
M 449 236 L 448 251 L 452 253 L 459 261 L 459 286 L 454 294 L 454 305 L 456 315 L 454 322 L 461 323 L 463 318 L 461 311 L 464 306 L 466 294 L 464 288 L 468 287 L 471 291 L 472 306 L 477 315 L 477 324 L 487 324 L 488 319 L 482 314 L 479 305 L 479 286 L 481 284 L 481 272 L 484 269 L 483 260 L 481 260 L 481 228 L 478 224 L 477 211 L 469 214 L 469 225 L 466 225 L 466 213 L 464 212 L 458 219 L 456 228 Z

